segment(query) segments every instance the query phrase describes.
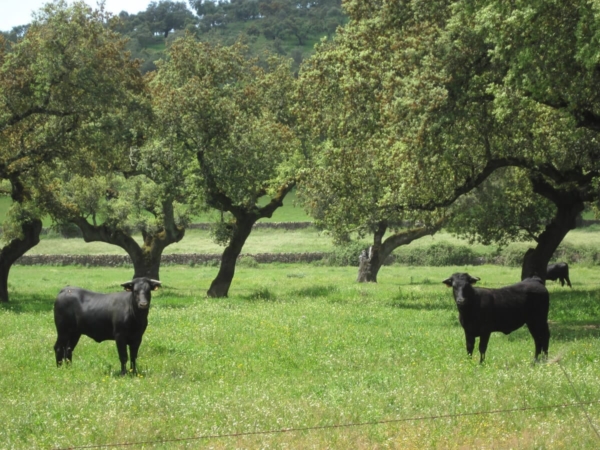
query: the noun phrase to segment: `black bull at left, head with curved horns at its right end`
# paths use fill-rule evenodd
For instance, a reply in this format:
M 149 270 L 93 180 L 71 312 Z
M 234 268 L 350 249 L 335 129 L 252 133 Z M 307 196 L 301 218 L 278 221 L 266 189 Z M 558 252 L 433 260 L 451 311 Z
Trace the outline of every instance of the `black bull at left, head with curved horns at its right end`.
M 54 344 L 56 365 L 71 362 L 73 350 L 82 334 L 96 342 L 114 340 L 121 360 L 121 375 L 125 375 L 127 346 L 131 370 L 148 325 L 151 292 L 160 287 L 160 281 L 135 278 L 121 286 L 126 292 L 100 294 L 78 287 L 63 288 L 54 302 L 54 323 L 58 338 Z

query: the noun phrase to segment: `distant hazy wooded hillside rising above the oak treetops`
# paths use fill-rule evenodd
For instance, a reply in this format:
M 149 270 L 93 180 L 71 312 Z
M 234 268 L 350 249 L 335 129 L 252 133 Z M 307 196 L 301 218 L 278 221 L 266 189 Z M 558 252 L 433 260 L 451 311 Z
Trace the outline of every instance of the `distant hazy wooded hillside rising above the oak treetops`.
M 197 39 L 231 45 L 243 40 L 249 52 L 264 50 L 292 57 L 294 69 L 308 57 L 323 36 L 332 36 L 347 17 L 341 0 L 172 0 L 150 1 L 145 11 L 118 14 L 115 31 L 129 39 L 127 49 L 143 61 L 141 70 L 156 69 L 173 39 L 186 31 Z M 7 40 L 22 38 L 29 25 L 3 32 Z

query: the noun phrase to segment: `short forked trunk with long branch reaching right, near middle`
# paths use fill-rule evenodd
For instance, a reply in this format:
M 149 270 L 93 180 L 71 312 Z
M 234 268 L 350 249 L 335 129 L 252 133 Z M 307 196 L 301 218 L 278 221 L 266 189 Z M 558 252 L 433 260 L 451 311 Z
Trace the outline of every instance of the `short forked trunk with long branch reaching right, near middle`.
M 359 258 L 358 282 L 377 283 L 379 269 L 381 269 L 381 266 L 387 257 L 390 256 L 395 249 L 402 245 L 408 245 L 412 241 L 423 236 L 437 233 L 445 222 L 446 217 L 443 217 L 431 226 L 402 230 L 391 235 L 385 241 L 383 240 L 383 236 L 387 231 L 388 224 L 386 221 L 379 222 L 373 235 L 373 245 L 369 248 L 367 255 L 363 254 L 361 255 L 361 258 Z

